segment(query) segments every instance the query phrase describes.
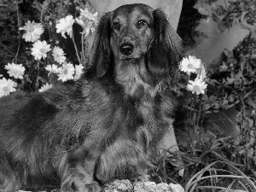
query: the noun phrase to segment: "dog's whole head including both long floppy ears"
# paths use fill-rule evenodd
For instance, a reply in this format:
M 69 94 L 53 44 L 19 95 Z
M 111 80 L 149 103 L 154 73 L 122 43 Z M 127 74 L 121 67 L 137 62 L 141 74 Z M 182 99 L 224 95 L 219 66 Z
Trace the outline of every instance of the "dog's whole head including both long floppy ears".
M 160 9 L 127 4 L 102 16 L 91 55 L 87 78 L 105 75 L 114 78 L 116 70 L 140 65 L 138 76 L 145 81 L 150 76 L 148 79 L 157 83 L 161 79 L 174 79 L 182 45 Z

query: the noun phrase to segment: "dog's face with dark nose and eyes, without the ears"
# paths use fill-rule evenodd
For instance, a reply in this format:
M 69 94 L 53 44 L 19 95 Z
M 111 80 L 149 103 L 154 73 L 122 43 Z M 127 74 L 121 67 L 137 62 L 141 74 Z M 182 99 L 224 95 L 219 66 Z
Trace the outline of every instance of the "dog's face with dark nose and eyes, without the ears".
M 154 35 L 153 9 L 146 5 L 124 5 L 113 11 L 110 39 L 115 60 L 143 58 Z

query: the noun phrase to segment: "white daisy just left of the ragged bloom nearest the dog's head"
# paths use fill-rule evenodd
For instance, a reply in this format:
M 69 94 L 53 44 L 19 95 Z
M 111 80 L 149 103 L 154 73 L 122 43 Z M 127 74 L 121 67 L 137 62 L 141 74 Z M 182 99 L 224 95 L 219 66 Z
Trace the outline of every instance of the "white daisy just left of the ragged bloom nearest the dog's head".
M 61 32 L 61 36 L 63 38 L 67 38 L 65 36 L 65 32 L 67 32 L 67 35 L 69 35 L 70 38 L 72 38 L 73 35 L 73 16 L 72 15 L 67 15 L 65 18 L 62 18 L 61 20 L 58 21 L 56 28 L 58 33 Z

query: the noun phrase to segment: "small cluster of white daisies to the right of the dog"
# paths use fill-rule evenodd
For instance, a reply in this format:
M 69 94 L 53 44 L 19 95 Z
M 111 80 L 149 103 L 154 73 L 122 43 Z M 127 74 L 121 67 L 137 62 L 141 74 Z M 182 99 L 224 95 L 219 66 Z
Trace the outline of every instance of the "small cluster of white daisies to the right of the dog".
M 207 84 L 205 81 L 207 78 L 207 73 L 200 59 L 197 59 L 193 55 L 184 57 L 180 62 L 179 69 L 180 71 L 189 75 L 189 83 L 186 87 L 187 90 L 192 91 L 192 93 L 196 95 L 205 94 L 207 89 Z M 196 78 L 194 80 L 190 80 L 191 73 L 196 73 Z

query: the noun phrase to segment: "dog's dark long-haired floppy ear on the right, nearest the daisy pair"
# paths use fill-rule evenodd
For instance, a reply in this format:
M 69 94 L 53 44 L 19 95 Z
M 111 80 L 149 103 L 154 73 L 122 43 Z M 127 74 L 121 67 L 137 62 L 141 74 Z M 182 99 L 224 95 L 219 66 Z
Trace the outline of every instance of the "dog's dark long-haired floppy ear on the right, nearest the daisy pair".
M 154 10 L 153 18 L 154 37 L 148 47 L 148 70 L 156 79 L 169 77 L 172 81 L 183 54 L 182 41 L 160 9 Z

